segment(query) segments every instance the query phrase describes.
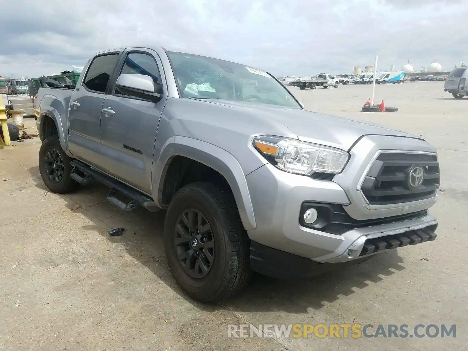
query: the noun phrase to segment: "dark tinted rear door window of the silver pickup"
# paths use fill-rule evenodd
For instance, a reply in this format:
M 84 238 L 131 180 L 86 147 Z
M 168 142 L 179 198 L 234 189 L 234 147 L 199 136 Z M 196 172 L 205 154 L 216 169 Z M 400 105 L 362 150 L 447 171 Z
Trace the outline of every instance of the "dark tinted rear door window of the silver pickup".
M 89 90 L 104 93 L 109 78 L 117 65 L 118 54 L 96 57 L 89 66 L 83 85 Z

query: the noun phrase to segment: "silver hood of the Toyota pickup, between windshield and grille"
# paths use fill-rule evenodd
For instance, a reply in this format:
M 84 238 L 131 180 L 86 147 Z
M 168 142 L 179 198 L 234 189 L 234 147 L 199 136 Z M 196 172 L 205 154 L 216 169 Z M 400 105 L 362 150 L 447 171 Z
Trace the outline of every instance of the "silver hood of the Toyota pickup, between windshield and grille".
M 253 125 L 255 125 L 254 121 L 261 122 L 261 120 L 265 120 L 265 123 L 276 121 L 276 123 L 282 124 L 289 129 L 301 141 L 337 147 L 345 151 L 348 151 L 358 139 L 365 135 L 421 139 L 377 124 L 354 121 L 309 110 L 218 99 L 199 101 L 229 107 L 233 112 L 236 111 L 243 117 L 249 117 Z

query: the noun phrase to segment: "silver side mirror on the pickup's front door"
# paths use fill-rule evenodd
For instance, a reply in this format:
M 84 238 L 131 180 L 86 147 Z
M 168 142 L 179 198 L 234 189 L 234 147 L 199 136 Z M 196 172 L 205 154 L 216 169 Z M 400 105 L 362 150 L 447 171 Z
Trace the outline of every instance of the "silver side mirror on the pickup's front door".
M 144 74 L 121 74 L 117 78 L 116 87 L 126 95 L 152 102 L 160 101 L 163 94 L 162 84 L 154 84 L 153 78 Z

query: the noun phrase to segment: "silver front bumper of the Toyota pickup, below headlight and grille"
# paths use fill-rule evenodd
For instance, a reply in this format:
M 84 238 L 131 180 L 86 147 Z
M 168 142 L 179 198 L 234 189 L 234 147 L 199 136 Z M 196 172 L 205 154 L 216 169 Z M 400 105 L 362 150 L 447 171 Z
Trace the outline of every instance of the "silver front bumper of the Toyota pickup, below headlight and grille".
M 249 238 L 260 245 L 305 257 L 318 263 L 360 260 L 364 251 L 366 251 L 365 256 L 371 256 L 384 249 L 395 249 L 403 246 L 395 246 L 395 240 L 387 242 L 387 240 L 395 239 L 395 235 L 413 235 L 419 233 L 420 230 L 434 232 L 438 225 L 433 216 L 424 213 L 417 218 L 395 219 L 390 223 L 370 224 L 344 233 L 331 234 L 302 226 L 299 222 L 299 214 L 301 205 L 305 201 L 343 205 L 348 212 L 351 205 L 348 194 L 335 181 L 316 180 L 307 176 L 286 173 L 271 164 L 256 169 L 246 179 L 257 223 L 255 229 L 248 231 Z M 396 212 L 391 208 L 379 209 L 382 211 L 377 211 L 380 216 L 372 215 L 367 217 L 367 220 L 390 217 L 395 213 L 416 212 L 422 210 L 421 207 L 427 209 L 432 204 L 431 199 L 425 204 L 415 206 L 414 211 L 409 211 L 411 206 L 398 208 Z M 373 211 L 375 210 L 363 209 L 364 213 Z M 351 217 L 356 219 L 355 216 L 351 215 Z M 435 239 L 435 236 L 431 235 L 432 237 Z M 413 244 L 429 241 L 426 235 L 424 238 L 413 239 Z M 382 246 L 381 241 L 386 244 Z M 369 246 L 371 244 L 377 245 L 372 252 Z

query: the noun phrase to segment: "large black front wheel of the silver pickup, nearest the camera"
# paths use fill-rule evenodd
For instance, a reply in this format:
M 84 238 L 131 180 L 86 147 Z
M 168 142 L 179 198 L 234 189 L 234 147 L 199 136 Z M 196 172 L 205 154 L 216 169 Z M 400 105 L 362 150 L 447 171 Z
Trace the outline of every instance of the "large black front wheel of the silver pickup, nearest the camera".
M 177 191 L 166 213 L 164 246 L 174 278 L 197 301 L 224 300 L 249 280 L 249 237 L 234 197 L 215 184 Z

